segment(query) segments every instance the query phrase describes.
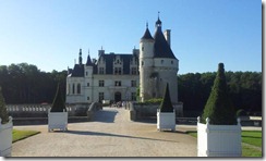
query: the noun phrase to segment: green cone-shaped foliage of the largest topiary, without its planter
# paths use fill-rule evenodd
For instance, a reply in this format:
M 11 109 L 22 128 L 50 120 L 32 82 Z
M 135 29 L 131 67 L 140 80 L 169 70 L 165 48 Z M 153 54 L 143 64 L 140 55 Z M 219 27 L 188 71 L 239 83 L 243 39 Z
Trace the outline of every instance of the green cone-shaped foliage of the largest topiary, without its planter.
M 211 92 L 204 108 L 203 122 L 206 117 L 215 125 L 237 124 L 235 111 L 227 90 L 223 63 L 219 63 Z

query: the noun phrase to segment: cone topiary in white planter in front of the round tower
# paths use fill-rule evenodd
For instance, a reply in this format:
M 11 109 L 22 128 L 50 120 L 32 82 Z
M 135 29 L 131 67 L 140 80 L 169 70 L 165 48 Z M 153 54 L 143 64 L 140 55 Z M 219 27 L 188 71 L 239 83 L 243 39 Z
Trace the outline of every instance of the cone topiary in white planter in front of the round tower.
M 176 131 L 176 112 L 170 99 L 168 84 L 166 86 L 164 100 L 159 109 L 157 109 L 157 129 Z

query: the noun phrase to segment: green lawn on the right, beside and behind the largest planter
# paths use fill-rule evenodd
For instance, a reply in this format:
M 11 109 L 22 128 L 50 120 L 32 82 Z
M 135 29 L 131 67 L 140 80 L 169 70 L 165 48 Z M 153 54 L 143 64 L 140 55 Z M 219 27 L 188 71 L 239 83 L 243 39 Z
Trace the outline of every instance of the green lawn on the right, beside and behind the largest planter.
M 189 135 L 197 137 L 196 132 L 188 132 Z M 262 157 L 262 131 L 242 131 L 241 133 L 242 143 L 242 157 Z M 251 146 L 249 146 L 251 145 Z M 258 147 L 261 150 L 257 150 Z

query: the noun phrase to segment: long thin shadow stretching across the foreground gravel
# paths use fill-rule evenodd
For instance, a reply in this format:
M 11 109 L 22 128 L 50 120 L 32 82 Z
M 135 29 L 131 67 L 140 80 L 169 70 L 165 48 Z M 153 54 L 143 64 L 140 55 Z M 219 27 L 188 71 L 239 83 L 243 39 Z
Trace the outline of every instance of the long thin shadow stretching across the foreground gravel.
M 119 134 L 109 134 L 109 133 L 99 133 L 99 132 L 88 132 L 88 131 L 66 131 L 64 133 L 74 134 L 74 135 L 89 135 L 89 136 L 97 135 L 97 136 L 110 136 L 110 137 L 123 137 L 123 138 L 134 138 L 134 139 L 146 139 L 146 140 L 179 143 L 179 141 L 174 141 L 174 140 L 146 138 L 146 137 L 136 137 L 136 136 L 128 136 L 128 135 L 119 135 Z

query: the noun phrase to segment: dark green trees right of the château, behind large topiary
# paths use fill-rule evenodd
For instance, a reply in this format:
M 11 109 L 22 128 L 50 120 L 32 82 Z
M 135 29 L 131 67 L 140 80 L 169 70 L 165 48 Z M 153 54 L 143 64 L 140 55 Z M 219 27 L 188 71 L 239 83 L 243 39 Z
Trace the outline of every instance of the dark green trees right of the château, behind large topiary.
M 188 73 L 178 76 L 179 100 L 183 102 L 184 111 L 203 111 L 215 76 L 216 72 Z M 226 79 L 235 110 L 242 109 L 252 114 L 262 112 L 261 72 L 226 72 Z

